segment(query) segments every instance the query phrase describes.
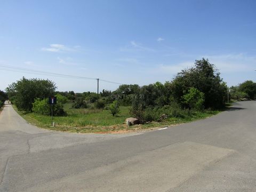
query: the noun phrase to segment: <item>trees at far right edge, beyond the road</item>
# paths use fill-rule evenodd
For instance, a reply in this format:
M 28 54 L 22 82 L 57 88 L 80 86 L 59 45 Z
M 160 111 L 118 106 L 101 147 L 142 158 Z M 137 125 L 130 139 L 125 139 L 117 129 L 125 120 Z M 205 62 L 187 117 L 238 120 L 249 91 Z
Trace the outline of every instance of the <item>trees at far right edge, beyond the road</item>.
M 245 81 L 237 86 L 230 87 L 230 98 L 234 100 L 255 100 L 256 99 L 256 83 L 253 81 Z

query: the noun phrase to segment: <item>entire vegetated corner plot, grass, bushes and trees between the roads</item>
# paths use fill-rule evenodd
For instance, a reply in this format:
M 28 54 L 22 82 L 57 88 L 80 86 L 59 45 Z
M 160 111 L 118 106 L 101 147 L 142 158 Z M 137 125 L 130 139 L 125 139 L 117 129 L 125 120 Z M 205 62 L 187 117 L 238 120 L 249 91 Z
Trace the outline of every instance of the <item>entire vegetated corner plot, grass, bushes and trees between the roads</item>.
M 46 129 L 87 133 L 153 129 L 206 118 L 226 107 L 228 90 L 218 70 L 204 58 L 164 84 L 124 84 L 115 91 L 102 90 L 99 102 L 94 92 L 57 92 L 56 88 L 49 80 L 23 77 L 6 92 L 28 122 Z M 47 103 L 52 95 L 57 97 L 54 127 Z M 129 117 L 137 118 L 139 125 L 127 126 Z

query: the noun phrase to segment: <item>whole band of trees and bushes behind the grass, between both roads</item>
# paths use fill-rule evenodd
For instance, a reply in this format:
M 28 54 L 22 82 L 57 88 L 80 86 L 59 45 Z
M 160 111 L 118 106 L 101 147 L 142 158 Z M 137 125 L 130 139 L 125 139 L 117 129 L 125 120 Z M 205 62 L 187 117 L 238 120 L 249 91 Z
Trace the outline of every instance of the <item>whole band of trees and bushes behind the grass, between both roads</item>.
M 131 106 L 131 116 L 141 123 L 170 116 L 182 117 L 193 111 L 220 109 L 225 107 L 227 100 L 226 83 L 215 66 L 204 58 L 196 60 L 194 67 L 182 70 L 164 84 L 120 85 L 113 92 L 103 90 L 99 103 L 97 93 L 56 92 L 56 88 L 49 80 L 23 77 L 9 85 L 6 92 L 19 110 L 50 114 L 47 98 L 57 95 L 59 105 L 54 106 L 55 115 L 65 115 L 63 105 L 66 102 L 71 102 L 73 108 L 98 107 L 111 111 L 114 108 L 115 113 L 119 111 L 118 106 Z

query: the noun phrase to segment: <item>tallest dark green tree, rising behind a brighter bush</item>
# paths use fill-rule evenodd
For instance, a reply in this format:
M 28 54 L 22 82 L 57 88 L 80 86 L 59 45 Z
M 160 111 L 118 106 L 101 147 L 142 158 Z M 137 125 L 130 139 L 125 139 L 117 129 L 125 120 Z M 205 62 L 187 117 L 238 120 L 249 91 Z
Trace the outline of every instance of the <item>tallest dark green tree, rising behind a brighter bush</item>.
M 172 98 L 182 103 L 183 95 L 190 87 L 195 87 L 205 96 L 205 108 L 222 108 L 225 106 L 227 85 L 220 77 L 218 69 L 207 59 L 196 60 L 195 66 L 184 69 L 173 79 Z

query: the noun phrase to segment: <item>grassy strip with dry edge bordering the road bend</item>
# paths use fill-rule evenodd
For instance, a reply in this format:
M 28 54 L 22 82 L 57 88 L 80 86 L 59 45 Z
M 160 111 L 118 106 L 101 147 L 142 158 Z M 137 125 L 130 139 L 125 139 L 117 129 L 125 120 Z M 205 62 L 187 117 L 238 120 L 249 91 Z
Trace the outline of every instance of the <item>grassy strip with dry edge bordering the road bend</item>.
M 151 122 L 143 125 L 127 126 L 125 119 L 131 117 L 129 107 L 121 107 L 121 113 L 117 117 L 113 117 L 109 110 L 100 109 L 73 109 L 71 103 L 65 105 L 67 116 L 53 117 L 54 127 L 51 127 L 51 117 L 45 115 L 37 115 L 35 113 L 25 113 L 14 109 L 28 121 L 29 123 L 45 129 L 56 131 L 68 131 L 77 133 L 114 133 L 129 132 L 143 129 L 155 129 L 155 127 L 163 127 L 177 125 L 203 119 L 218 114 L 220 111 L 195 111 L 190 114 L 184 114 L 182 118 L 170 117 L 164 122 Z

